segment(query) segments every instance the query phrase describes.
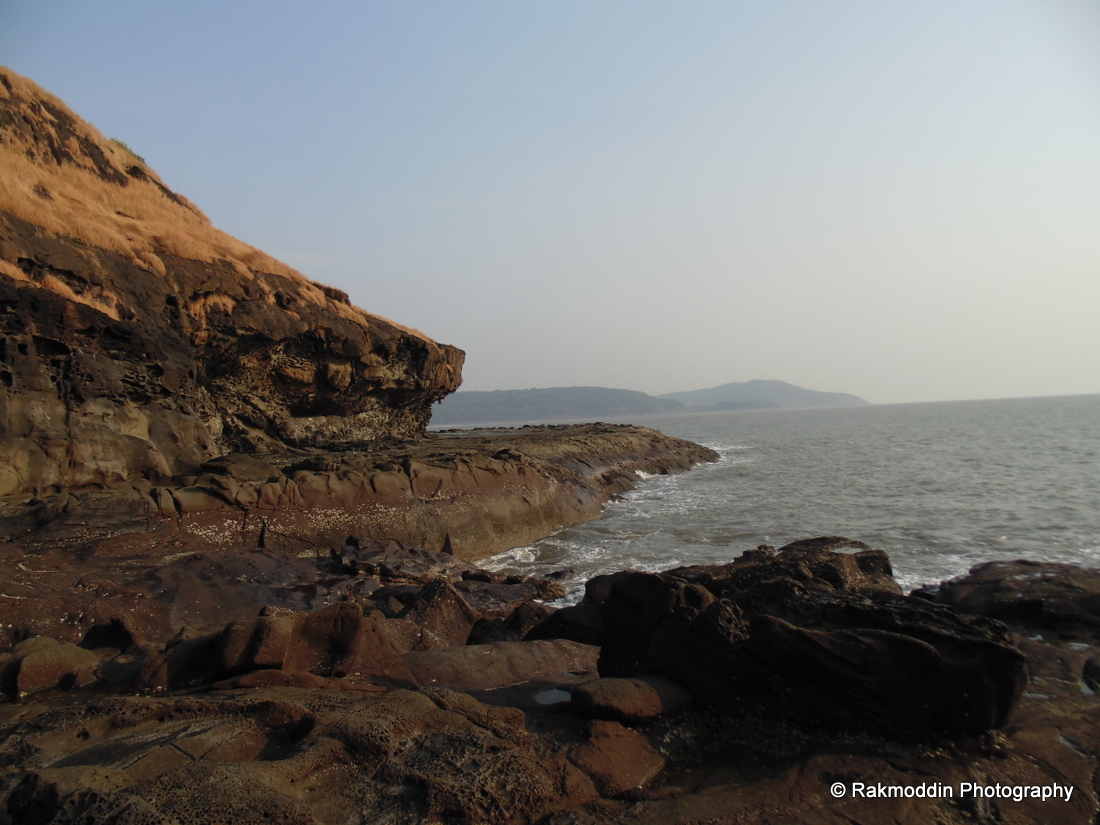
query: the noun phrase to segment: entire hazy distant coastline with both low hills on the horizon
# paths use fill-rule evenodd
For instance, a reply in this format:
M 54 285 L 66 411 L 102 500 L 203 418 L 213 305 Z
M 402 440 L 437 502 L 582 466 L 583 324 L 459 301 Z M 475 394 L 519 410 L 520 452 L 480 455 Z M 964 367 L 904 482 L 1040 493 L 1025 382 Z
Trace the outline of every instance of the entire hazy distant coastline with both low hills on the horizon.
M 847 393 L 805 389 L 783 381 L 746 381 L 652 396 L 608 387 L 459 392 L 432 408 L 431 424 L 503 424 L 661 416 L 755 409 L 811 409 L 869 404 Z

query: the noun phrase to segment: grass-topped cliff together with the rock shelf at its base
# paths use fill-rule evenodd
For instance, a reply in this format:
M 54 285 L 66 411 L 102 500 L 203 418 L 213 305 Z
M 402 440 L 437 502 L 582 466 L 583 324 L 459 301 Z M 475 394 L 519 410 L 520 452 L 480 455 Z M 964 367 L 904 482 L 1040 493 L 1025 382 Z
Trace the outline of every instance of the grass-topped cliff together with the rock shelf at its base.
M 428 435 L 460 350 L 217 230 L 7 69 L 0 176 L 0 620 L 73 635 L 155 594 L 205 626 L 263 603 L 256 564 L 296 582 L 349 536 L 482 558 L 715 458 L 601 425 Z M 224 575 L 194 585 L 196 557 Z

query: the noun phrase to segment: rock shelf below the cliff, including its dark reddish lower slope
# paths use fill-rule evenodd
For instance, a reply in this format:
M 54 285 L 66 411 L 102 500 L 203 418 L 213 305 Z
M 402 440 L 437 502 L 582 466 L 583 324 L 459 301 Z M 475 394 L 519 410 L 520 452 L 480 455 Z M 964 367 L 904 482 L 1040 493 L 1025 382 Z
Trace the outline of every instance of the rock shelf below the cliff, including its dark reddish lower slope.
M 348 537 L 462 559 L 598 517 L 638 471 L 715 458 L 639 427 L 578 425 L 447 432 L 370 451 L 227 455 L 174 484 L 123 484 L 0 499 L 0 623 L 76 641 L 133 614 L 161 638 L 264 605 L 339 598 L 319 572 Z

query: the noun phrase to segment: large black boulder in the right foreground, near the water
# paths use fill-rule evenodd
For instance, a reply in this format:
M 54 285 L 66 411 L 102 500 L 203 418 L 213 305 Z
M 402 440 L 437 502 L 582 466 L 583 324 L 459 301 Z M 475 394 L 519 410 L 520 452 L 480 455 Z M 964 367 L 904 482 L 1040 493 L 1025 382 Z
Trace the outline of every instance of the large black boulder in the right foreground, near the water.
M 1023 691 L 1003 626 L 901 595 L 886 554 L 846 539 L 593 584 L 570 609 L 600 615 L 602 675 L 661 674 L 725 712 L 922 739 L 1000 727 Z

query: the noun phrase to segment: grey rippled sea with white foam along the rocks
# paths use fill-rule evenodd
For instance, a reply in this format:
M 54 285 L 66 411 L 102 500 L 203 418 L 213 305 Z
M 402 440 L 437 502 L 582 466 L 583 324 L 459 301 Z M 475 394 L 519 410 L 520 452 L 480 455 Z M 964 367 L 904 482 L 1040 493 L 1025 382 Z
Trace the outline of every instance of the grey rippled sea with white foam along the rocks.
M 662 416 L 632 424 L 721 459 L 649 476 L 604 517 L 485 563 L 509 573 L 660 571 L 847 536 L 906 591 L 990 560 L 1100 566 L 1100 395 Z

